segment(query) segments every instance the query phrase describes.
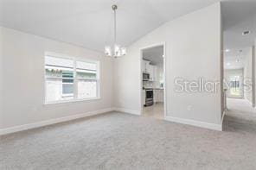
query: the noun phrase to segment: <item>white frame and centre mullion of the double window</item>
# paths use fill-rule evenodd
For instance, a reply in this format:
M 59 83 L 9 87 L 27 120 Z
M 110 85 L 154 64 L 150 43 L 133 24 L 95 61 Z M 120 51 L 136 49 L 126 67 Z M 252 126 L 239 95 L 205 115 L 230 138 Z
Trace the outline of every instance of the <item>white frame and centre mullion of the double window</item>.
M 54 57 L 54 58 L 59 58 L 59 59 L 65 59 L 65 60 L 73 60 L 74 66 L 73 66 L 73 72 L 74 72 L 74 98 L 73 99 L 67 99 L 67 100 L 56 100 L 56 101 L 51 101 L 48 102 L 47 101 L 47 76 L 46 76 L 46 69 L 45 69 L 45 58 L 46 56 L 49 57 Z M 70 56 L 67 54 L 56 54 L 56 53 L 52 53 L 52 52 L 46 52 L 44 54 L 44 59 L 43 59 L 43 80 L 44 80 L 44 104 L 48 105 L 48 104 L 65 104 L 65 103 L 74 103 L 74 102 L 83 102 L 83 101 L 93 101 L 93 100 L 98 100 L 100 99 L 100 79 L 99 79 L 99 60 L 87 60 L 87 59 L 80 59 L 80 57 L 74 57 L 74 56 Z M 93 63 L 96 64 L 97 68 L 96 68 L 96 97 L 95 98 L 78 98 L 78 78 L 76 76 L 76 62 L 80 61 L 80 62 L 87 62 L 87 63 Z

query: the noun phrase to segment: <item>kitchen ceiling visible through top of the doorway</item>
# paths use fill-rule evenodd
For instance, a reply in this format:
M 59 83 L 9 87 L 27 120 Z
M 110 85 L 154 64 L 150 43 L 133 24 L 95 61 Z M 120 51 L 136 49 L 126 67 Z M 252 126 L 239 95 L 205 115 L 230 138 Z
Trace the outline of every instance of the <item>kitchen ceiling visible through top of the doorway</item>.
M 163 46 L 146 48 L 142 55 L 143 59 L 150 60 L 152 65 L 163 65 Z

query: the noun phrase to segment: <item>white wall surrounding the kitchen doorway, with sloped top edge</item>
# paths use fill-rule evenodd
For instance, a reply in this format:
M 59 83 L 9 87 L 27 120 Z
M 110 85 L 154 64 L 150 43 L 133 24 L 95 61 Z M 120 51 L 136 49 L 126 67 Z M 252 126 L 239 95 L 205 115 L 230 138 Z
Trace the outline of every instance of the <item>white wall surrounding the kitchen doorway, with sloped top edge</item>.
M 115 107 L 140 112 L 140 48 L 166 43 L 167 116 L 221 124 L 221 91 L 175 92 L 174 79 L 221 81 L 221 4 L 165 23 L 115 61 Z

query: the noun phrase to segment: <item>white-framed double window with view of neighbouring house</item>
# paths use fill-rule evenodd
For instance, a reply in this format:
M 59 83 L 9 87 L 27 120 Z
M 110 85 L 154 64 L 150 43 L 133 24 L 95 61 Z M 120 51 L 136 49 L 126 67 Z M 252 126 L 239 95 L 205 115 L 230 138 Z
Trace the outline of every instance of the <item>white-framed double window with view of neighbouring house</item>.
M 45 57 L 46 103 L 99 98 L 99 62 Z

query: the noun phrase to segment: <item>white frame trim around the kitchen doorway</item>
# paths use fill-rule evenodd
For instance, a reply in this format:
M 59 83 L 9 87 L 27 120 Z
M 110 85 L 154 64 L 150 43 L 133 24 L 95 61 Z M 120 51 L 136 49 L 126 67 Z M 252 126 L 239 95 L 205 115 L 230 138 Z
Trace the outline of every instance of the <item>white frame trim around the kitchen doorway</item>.
M 142 86 L 143 86 L 143 50 L 144 49 L 148 49 L 148 48 L 151 48 L 151 47 L 159 47 L 159 46 L 163 46 L 163 119 L 166 118 L 167 116 L 167 101 L 166 101 L 166 43 L 165 41 L 163 42 L 158 42 L 156 44 L 151 44 L 149 46 L 145 46 L 145 47 L 141 47 L 139 49 L 139 53 L 140 53 L 140 60 L 139 60 L 139 66 L 140 66 L 140 81 L 139 81 L 139 97 L 140 97 L 140 115 L 143 114 L 143 108 L 144 108 L 144 105 L 142 103 L 143 101 L 143 95 L 142 95 L 142 92 L 143 92 L 143 89 L 142 89 Z

